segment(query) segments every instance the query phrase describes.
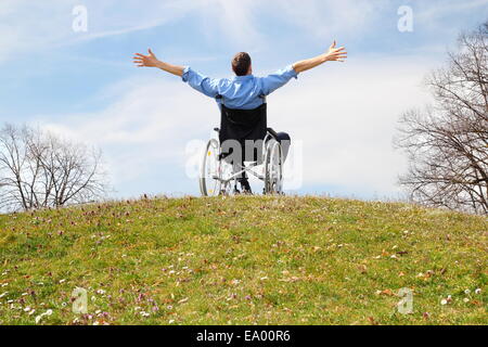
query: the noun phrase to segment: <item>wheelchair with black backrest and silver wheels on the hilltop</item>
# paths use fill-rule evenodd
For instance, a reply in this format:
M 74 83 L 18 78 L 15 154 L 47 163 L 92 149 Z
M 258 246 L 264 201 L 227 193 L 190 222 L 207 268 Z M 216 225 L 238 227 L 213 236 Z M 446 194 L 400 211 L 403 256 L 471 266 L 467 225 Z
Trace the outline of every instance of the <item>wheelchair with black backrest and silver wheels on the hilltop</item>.
M 214 129 L 217 137 L 208 141 L 201 162 L 202 195 L 239 194 L 239 179 L 246 175 L 264 182 L 264 194 L 283 194 L 283 149 L 278 133 L 267 127 L 266 100 L 255 110 L 230 110 L 223 103 L 220 106 L 220 128 Z M 241 159 L 235 159 L 235 152 L 224 145 L 229 141 L 241 146 Z M 249 141 L 255 144 L 251 155 L 245 153 Z

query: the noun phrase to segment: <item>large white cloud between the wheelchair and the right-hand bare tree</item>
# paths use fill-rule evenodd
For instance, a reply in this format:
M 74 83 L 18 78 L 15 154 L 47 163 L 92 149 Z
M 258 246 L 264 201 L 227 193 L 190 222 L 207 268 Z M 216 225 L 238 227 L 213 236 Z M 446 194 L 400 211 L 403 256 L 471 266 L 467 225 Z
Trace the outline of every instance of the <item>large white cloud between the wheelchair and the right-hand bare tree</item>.
M 270 99 L 270 121 L 304 141 L 305 182 L 398 192 L 404 158 L 391 139 L 399 115 L 429 100 L 420 85 L 433 64 L 412 56 L 350 59 L 304 74 L 299 86 Z

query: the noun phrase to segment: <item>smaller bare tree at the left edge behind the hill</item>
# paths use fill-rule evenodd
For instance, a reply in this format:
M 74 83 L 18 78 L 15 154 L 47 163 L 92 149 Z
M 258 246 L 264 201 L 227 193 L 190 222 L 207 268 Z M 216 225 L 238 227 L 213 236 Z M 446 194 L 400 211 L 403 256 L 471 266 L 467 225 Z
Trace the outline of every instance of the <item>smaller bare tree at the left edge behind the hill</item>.
M 26 126 L 0 130 L 0 209 L 87 203 L 106 189 L 100 151 Z

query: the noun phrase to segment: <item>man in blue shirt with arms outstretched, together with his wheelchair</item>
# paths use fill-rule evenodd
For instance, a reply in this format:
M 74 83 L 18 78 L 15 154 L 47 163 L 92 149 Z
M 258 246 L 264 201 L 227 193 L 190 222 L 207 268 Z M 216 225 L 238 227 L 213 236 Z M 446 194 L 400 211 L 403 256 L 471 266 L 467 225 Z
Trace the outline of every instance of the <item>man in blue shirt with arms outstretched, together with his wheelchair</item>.
M 249 54 L 241 52 L 232 60 L 232 70 L 235 76 L 230 79 L 209 78 L 191 67 L 162 62 L 151 49 L 147 55 L 136 53 L 133 62 L 139 67 L 157 67 L 179 76 L 195 90 L 217 101 L 221 112 L 220 129 L 216 129 L 219 132 L 219 143 L 209 143 L 211 145 L 207 145 L 207 153 L 208 156 L 214 152 L 217 153 L 217 162 L 226 160 L 233 167 L 230 179 L 218 177 L 219 184 L 227 185 L 230 180 L 235 180 L 240 182 L 244 193 L 251 193 L 246 176 L 249 171 L 244 166 L 244 162 L 255 162 L 255 165 L 265 162 L 266 177 L 259 177 L 265 180 L 265 192 L 280 193 L 281 182 L 278 180 L 281 180 L 279 176 L 282 175 L 282 165 L 288 153 L 291 138 L 285 132 L 277 133 L 267 127 L 266 97 L 286 85 L 292 78 L 297 78 L 299 73 L 325 62 L 344 62 L 346 57 L 345 48 L 336 48 L 334 41 L 323 54 L 296 62 L 267 77 L 255 77 Z M 251 145 L 252 154 L 248 150 L 249 142 L 254 143 Z M 233 145 L 228 145 L 229 143 Z M 256 146 L 256 143 L 262 147 Z M 272 171 L 277 169 L 280 172 L 273 174 Z M 221 174 L 221 168 L 217 168 L 217 171 Z M 273 179 L 271 175 L 278 176 Z M 217 193 L 220 193 L 221 185 L 217 190 Z M 236 188 L 234 190 L 237 192 Z M 211 195 L 207 189 L 203 193 Z

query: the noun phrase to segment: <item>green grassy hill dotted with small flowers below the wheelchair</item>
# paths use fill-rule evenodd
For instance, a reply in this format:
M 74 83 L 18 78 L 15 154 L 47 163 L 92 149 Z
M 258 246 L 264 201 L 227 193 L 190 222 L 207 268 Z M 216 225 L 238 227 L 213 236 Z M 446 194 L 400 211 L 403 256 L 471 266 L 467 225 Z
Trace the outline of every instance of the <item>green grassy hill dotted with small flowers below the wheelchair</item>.
M 5 215 L 0 323 L 487 324 L 487 232 L 483 217 L 318 197 Z

